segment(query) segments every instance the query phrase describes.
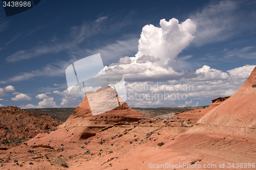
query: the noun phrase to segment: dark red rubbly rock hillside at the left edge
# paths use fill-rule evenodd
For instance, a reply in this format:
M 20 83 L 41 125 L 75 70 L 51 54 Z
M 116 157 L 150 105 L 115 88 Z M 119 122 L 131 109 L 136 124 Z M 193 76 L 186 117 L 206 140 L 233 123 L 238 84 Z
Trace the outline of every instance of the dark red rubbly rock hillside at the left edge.
M 19 143 L 60 124 L 47 114 L 27 112 L 16 106 L 0 107 L 0 142 L 4 145 Z

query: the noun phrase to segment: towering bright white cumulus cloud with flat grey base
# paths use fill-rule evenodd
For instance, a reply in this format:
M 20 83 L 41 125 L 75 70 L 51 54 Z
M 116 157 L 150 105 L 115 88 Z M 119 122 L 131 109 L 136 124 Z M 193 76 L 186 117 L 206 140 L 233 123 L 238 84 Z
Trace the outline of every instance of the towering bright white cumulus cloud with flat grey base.
M 182 23 L 175 18 L 160 20 L 160 28 L 146 25 L 142 28 L 135 57 L 120 58 L 104 70 L 123 74 L 126 81 L 170 80 L 186 72 L 176 72 L 177 55 L 193 40 L 196 25 L 187 19 Z

